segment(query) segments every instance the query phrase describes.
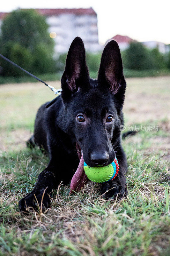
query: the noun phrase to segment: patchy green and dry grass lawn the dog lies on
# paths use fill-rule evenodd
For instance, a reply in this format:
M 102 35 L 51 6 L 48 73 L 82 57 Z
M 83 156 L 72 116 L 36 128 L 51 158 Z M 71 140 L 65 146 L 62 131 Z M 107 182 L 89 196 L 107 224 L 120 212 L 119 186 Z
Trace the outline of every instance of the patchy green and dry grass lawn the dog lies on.
M 69 196 L 61 184 L 46 212 L 21 215 L 19 199 L 48 164 L 25 141 L 54 94 L 41 83 L 0 85 L 0 256 L 169 256 L 169 93 L 170 77 L 127 79 L 125 126 L 139 132 L 123 140 L 126 198 L 105 201 L 93 182 Z

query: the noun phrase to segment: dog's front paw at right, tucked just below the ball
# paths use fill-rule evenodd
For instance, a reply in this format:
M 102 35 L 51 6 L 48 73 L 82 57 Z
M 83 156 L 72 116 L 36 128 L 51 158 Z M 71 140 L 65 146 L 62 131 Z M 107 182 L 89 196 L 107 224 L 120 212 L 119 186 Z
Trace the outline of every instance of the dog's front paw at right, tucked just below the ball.
M 116 199 L 126 196 L 126 188 L 115 181 L 108 181 L 101 185 L 101 195 L 104 199 Z

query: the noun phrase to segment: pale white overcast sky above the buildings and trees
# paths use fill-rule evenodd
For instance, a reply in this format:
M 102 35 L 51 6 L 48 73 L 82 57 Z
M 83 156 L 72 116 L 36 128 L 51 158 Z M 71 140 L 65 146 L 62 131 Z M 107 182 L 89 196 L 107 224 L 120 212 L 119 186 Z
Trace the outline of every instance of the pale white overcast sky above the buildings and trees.
M 99 41 L 116 34 L 170 44 L 169 0 L 1 0 L 0 12 L 20 8 L 88 8 L 98 15 Z

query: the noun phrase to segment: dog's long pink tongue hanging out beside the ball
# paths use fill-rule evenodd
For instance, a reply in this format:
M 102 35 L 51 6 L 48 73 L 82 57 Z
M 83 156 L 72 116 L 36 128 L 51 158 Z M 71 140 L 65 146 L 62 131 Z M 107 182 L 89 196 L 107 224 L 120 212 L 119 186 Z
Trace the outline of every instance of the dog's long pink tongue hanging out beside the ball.
M 71 180 L 70 194 L 74 191 L 78 191 L 78 190 L 84 188 L 85 184 L 88 181 L 88 178 L 85 174 L 83 166 L 84 166 L 84 159 L 83 159 L 83 154 L 82 154 L 77 171 L 74 173 L 74 176 Z

